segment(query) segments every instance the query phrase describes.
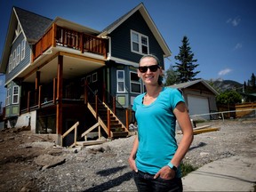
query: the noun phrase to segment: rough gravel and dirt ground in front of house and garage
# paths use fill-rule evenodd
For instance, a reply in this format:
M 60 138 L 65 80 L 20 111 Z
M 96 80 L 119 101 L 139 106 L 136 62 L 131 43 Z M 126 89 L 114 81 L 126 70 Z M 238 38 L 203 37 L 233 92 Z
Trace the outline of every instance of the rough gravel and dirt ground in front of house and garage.
M 195 135 L 184 162 L 200 167 L 228 156 L 256 157 L 255 118 L 197 126 L 205 124 L 220 131 Z M 127 161 L 134 136 L 77 150 L 60 148 L 29 132 L 16 132 L 14 137 L 11 133 L 1 132 L 0 191 L 136 191 Z M 178 142 L 180 138 L 177 134 Z M 59 162 L 43 164 L 46 155 Z

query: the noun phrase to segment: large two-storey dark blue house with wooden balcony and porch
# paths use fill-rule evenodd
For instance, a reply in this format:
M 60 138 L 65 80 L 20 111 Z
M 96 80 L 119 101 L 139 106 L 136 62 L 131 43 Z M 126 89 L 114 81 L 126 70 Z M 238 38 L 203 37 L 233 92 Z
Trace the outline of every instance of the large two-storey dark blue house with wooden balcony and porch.
M 0 66 L 8 127 L 30 126 L 65 145 L 68 132 L 75 140 L 98 128 L 127 136 L 132 101 L 144 92 L 138 62 L 148 53 L 162 68 L 171 55 L 142 3 L 102 31 L 13 7 Z

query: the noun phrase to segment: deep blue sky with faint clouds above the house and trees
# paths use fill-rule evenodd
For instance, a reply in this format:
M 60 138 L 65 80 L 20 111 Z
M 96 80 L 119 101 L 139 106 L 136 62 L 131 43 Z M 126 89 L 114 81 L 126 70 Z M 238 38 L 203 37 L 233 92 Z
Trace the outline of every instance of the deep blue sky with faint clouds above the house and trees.
M 183 36 L 205 80 L 222 78 L 241 84 L 256 75 L 256 1 L 254 0 L 1 0 L 0 53 L 12 6 L 54 19 L 61 17 L 101 30 L 143 2 L 172 51 L 165 68 L 175 65 L 174 56 Z M 3 87 L 3 76 L 0 84 Z M 3 91 L 0 92 L 2 100 Z

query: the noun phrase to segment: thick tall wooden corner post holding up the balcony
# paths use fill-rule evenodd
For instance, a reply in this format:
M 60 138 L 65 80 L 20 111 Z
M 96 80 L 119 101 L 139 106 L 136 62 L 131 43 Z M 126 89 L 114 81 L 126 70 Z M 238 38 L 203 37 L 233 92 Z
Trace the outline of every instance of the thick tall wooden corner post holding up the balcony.
M 57 69 L 57 111 L 56 111 L 56 131 L 58 136 L 58 144 L 61 143 L 62 134 L 62 77 L 63 77 L 63 56 L 58 56 Z

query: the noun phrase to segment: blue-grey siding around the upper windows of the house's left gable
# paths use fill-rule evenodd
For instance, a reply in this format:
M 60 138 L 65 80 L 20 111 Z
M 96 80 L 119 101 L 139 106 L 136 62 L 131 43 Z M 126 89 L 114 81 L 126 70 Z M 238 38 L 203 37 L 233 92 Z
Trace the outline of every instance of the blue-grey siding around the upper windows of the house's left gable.
M 12 50 L 11 50 L 12 54 L 13 54 L 13 51 L 15 49 L 17 49 L 19 44 L 20 44 L 20 48 L 21 48 L 21 42 L 22 42 L 23 39 L 24 39 L 24 36 L 23 36 L 22 33 L 20 33 L 20 36 L 18 36 L 18 38 L 12 44 Z M 21 52 L 20 52 L 20 56 L 21 56 Z M 9 55 L 9 58 L 10 58 L 10 55 Z M 25 58 L 23 60 L 20 60 L 20 63 L 15 68 L 12 69 L 11 73 L 9 73 L 9 60 L 8 60 L 7 68 L 6 68 L 5 81 L 6 82 L 9 81 L 12 78 L 12 76 L 15 76 L 17 73 L 19 73 L 20 70 L 22 70 L 23 68 L 28 66 L 29 63 L 30 63 L 30 46 L 29 46 L 28 42 L 26 42 Z

